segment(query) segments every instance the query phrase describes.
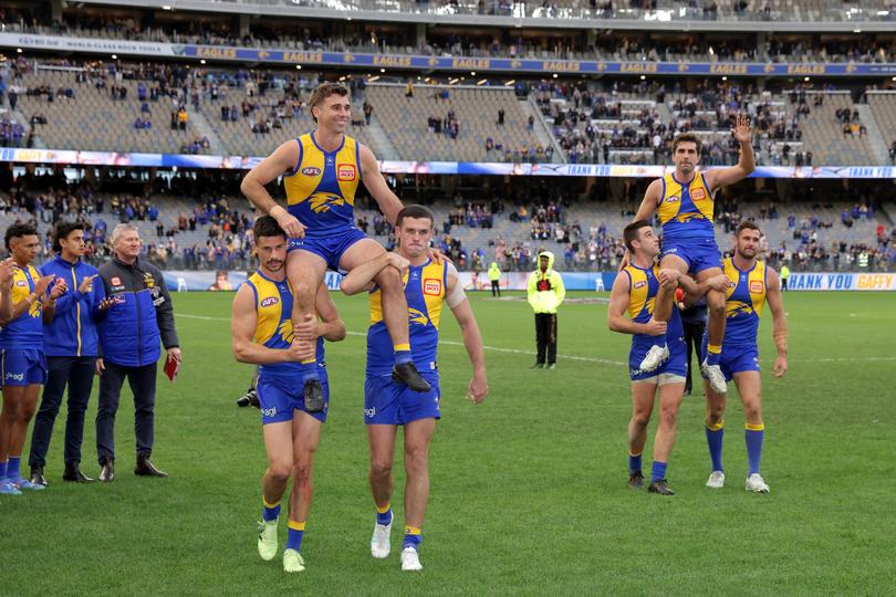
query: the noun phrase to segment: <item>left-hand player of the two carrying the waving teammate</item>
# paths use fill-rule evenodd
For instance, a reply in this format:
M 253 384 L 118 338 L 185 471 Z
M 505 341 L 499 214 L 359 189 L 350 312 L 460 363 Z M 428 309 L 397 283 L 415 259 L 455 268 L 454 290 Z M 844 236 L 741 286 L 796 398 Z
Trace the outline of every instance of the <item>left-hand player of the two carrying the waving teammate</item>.
M 623 240 L 632 259 L 613 283 L 607 325 L 613 332 L 632 334 L 632 349 L 628 354 L 633 407 L 628 423 L 628 486 L 638 489 L 644 485 L 642 452 L 647 441 L 647 423 L 654 410 L 654 397 L 659 389 L 659 426 L 654 440 L 654 463 L 648 491 L 675 495 L 666 481 L 666 467 L 675 443 L 678 407 L 685 391 L 687 347 L 678 310 L 673 308 L 671 303 L 659 305 L 656 298 L 660 285 L 667 293 L 675 294 L 679 273 L 675 270 L 660 271 L 656 264 L 659 239 L 647 221 L 640 220 L 625 227 Z M 723 286 L 720 276 L 713 283 L 719 289 Z M 659 308 L 668 311 L 659 313 Z M 626 311 L 629 318 L 624 316 Z M 656 337 L 665 338 L 669 356 L 654 370 L 642 370 L 639 364 L 655 345 Z

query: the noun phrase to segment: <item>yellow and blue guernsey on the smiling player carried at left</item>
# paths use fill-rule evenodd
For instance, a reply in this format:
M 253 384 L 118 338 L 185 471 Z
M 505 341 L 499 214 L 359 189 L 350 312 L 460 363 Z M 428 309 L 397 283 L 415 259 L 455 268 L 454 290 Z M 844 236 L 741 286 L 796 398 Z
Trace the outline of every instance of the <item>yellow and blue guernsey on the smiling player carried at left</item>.
M 335 151 L 324 151 L 314 133 L 302 135 L 299 163 L 283 179 L 289 212 L 308 227 L 305 238 L 327 238 L 354 228 L 355 190 L 361 182 L 361 146 L 343 135 Z

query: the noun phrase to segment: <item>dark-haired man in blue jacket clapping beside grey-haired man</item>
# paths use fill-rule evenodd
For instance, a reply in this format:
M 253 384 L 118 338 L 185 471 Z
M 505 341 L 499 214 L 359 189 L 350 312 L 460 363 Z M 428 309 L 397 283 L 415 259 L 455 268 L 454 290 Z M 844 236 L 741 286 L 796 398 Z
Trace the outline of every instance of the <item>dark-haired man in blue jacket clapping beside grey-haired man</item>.
M 69 387 L 69 416 L 65 421 L 65 472 L 62 479 L 88 483 L 93 479 L 81 472 L 81 444 L 84 440 L 84 413 L 93 389 L 98 337 L 94 317 L 108 307 L 105 289 L 96 280 L 96 268 L 82 260 L 84 224 L 60 222 L 53 230 L 56 258 L 41 265 L 44 275 L 65 280 L 70 289 L 56 301 L 52 322 L 43 328 L 43 352 L 49 374 L 34 431 L 31 434 L 31 482 L 46 485 L 43 468 L 59 415 L 62 395 Z M 94 283 L 96 281 L 96 283 Z

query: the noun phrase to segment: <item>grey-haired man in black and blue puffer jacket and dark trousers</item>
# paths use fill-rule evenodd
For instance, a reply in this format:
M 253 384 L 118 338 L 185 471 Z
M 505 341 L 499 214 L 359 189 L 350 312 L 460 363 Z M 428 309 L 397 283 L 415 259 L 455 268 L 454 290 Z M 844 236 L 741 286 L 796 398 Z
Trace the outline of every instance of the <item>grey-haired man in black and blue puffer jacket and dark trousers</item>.
M 115 476 L 115 413 L 127 378 L 134 391 L 134 431 L 137 465 L 134 473 L 168 476 L 149 460 L 155 439 L 156 366 L 159 339 L 168 358 L 180 362 L 174 305 L 162 272 L 140 259 L 136 227 L 122 223 L 112 231 L 113 258 L 100 268 L 100 277 L 112 305 L 100 323 L 100 407 L 96 411 L 96 452 L 100 481 Z

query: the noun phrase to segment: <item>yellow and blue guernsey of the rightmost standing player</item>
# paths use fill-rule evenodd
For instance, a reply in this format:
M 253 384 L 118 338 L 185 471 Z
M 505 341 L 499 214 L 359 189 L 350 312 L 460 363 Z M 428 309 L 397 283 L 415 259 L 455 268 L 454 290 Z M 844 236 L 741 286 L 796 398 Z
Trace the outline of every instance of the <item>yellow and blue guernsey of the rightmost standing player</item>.
M 757 261 L 747 271 L 738 270 L 731 258 L 723 260 L 726 290 L 725 348 L 756 345 L 759 334 L 759 316 L 765 304 L 768 269 L 764 261 Z

